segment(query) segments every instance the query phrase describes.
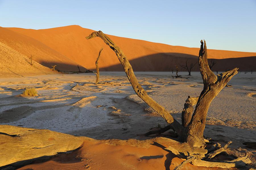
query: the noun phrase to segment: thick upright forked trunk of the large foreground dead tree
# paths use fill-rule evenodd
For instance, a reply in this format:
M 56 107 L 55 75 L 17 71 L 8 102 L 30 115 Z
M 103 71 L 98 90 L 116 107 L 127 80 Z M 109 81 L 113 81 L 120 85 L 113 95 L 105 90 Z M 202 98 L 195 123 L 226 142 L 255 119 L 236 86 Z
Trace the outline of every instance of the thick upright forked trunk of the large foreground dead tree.
M 204 88 L 199 96 L 191 121 L 187 126 L 187 133 L 184 133 L 184 135 L 187 135 L 185 137 L 187 143 L 201 148 L 205 147 L 203 132 L 210 103 L 226 86 L 228 81 L 238 73 L 238 68 L 234 68 L 231 71 L 214 75 L 207 62 L 207 47 L 206 43 L 204 43 L 201 40 L 201 49 L 199 51 L 199 69 L 203 78 Z

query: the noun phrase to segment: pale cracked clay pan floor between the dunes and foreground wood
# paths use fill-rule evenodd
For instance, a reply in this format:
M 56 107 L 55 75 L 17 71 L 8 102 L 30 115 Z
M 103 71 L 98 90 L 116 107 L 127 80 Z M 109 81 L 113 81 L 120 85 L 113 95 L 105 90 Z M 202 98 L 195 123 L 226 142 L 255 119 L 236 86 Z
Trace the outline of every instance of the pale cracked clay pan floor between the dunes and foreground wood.
M 173 79 L 171 72 L 135 72 L 148 94 L 181 121 L 187 96 L 199 96 L 201 74 Z M 187 75 L 180 72 L 179 75 Z M 50 129 L 95 139 L 146 139 L 150 128 L 166 126 L 162 117 L 137 96 L 124 72 L 38 75 L 0 79 L 0 124 Z M 205 138 L 245 146 L 256 140 L 256 74 L 235 75 L 212 101 Z M 18 97 L 25 88 L 36 88 L 38 96 Z M 155 137 L 155 136 L 154 136 Z

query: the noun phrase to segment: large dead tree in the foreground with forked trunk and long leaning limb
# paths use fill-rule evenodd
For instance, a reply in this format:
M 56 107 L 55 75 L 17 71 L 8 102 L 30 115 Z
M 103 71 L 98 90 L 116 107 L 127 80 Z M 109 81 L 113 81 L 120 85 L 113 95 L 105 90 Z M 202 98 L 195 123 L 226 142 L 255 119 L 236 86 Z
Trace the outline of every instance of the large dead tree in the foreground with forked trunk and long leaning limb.
M 250 163 L 250 160 L 247 158 L 247 156 L 225 162 L 208 162 L 202 160 L 205 158 L 205 154 L 207 154 L 208 152 L 208 150 L 204 149 L 206 146 L 206 140 L 203 137 L 208 108 L 214 97 L 217 96 L 218 93 L 226 86 L 228 81 L 230 81 L 230 79 L 238 73 L 238 68 L 234 68 L 231 71 L 214 75 L 214 73 L 210 70 L 208 66 L 206 44 L 205 42 L 203 43 L 203 41 L 201 40 L 201 49 L 199 51 L 199 69 L 203 78 L 204 88 L 198 98 L 189 97 L 187 99 L 188 102 L 186 102 L 188 104 L 187 107 L 184 107 L 185 110 L 183 116 L 185 116 L 185 113 L 188 115 L 190 115 L 191 113 L 193 114 L 191 118 L 190 116 L 184 118 L 182 126 L 176 119 L 171 116 L 171 114 L 163 106 L 158 104 L 150 96 L 147 95 L 146 91 L 141 87 L 137 78 L 135 77 L 131 64 L 127 60 L 122 50 L 101 31 L 91 33 L 88 37 L 86 37 L 86 39 L 92 39 L 94 37 L 100 37 L 115 52 L 135 93 L 144 102 L 146 102 L 148 106 L 153 108 L 160 116 L 162 116 L 166 120 L 166 122 L 169 123 L 169 127 L 176 131 L 177 135 L 179 135 L 179 140 L 183 141 L 180 147 L 172 148 L 171 146 L 169 146 L 166 149 L 170 150 L 172 153 L 176 154 L 180 158 L 188 159 L 186 162 L 191 162 L 193 165 L 197 166 L 229 168 Z M 193 100 L 191 100 L 190 98 Z M 193 104 L 195 103 L 197 104 L 193 112 Z M 185 124 L 187 124 L 186 127 L 184 127 Z M 211 155 L 216 154 L 213 153 Z

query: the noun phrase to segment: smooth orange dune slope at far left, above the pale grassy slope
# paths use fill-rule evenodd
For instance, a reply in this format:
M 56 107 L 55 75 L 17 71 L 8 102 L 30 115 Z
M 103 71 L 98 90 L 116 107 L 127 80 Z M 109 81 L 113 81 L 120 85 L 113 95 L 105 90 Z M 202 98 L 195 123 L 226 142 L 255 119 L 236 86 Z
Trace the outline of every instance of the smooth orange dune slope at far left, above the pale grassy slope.
M 6 49 L 3 49 L 3 48 L 8 46 L 9 49 L 13 49 L 14 51 L 17 51 L 18 53 L 22 54 L 26 58 L 32 55 L 34 56 L 33 60 L 35 60 L 36 62 L 46 67 L 51 68 L 52 65 L 57 65 L 55 68 L 59 70 L 65 70 L 65 71 L 78 70 L 76 62 L 58 53 L 57 51 L 51 49 L 44 43 L 36 39 L 33 39 L 29 36 L 0 27 L 0 42 L 5 45 L 5 46 L 3 45 L 1 46 L 1 50 L 6 51 Z M 3 60 L 8 60 L 8 58 L 10 58 L 10 55 L 8 55 L 8 53 L 6 55 L 2 54 L 1 60 L 2 58 Z M 13 64 L 17 65 L 18 63 L 13 62 Z M 5 64 L 5 66 L 9 67 L 7 66 L 7 64 Z M 22 68 L 22 65 L 20 66 Z M 81 70 L 82 69 L 83 68 L 81 67 Z M 26 72 L 26 70 L 21 69 L 20 72 Z

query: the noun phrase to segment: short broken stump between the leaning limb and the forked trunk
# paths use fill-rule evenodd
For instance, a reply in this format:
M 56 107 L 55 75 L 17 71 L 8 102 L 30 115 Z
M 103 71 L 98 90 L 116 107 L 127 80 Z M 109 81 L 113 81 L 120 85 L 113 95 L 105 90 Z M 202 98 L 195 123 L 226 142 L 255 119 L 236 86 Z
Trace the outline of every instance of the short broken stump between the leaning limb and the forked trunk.
M 194 111 L 193 106 L 197 103 L 199 97 L 190 97 L 188 96 L 185 104 L 184 109 L 181 113 L 181 122 L 183 127 L 187 127 L 189 122 L 191 121 L 191 117 Z

